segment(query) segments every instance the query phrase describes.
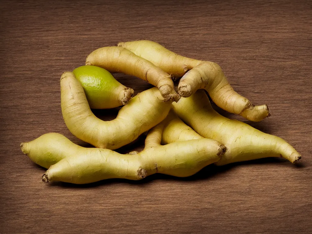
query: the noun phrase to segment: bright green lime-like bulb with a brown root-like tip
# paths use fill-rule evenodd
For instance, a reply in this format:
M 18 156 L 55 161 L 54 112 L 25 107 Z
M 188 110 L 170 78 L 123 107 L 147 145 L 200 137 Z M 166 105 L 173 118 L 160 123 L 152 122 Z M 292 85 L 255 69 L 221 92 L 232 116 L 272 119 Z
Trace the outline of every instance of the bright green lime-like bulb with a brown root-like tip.
M 97 66 L 80 66 L 73 71 L 82 85 L 90 108 L 111 109 L 126 105 L 134 90 L 120 84 L 109 71 Z

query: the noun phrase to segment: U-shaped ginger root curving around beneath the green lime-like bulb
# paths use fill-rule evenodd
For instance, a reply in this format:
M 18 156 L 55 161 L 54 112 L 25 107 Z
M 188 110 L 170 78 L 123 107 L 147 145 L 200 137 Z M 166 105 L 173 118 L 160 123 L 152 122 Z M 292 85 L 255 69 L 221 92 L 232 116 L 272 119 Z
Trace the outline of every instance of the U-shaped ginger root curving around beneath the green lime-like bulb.
M 111 121 L 98 119 L 90 110 L 83 87 L 72 72 L 61 76 L 61 108 L 67 128 L 77 138 L 98 148 L 118 149 L 129 144 L 168 114 L 165 101 L 154 87 L 133 97 Z

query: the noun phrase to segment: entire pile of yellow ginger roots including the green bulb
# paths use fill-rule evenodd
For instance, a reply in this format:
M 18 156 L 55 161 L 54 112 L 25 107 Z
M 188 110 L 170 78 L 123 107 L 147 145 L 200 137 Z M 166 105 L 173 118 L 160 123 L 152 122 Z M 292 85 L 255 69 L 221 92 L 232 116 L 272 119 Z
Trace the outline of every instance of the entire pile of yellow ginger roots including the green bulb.
M 111 73 L 137 76 L 155 87 L 133 96 L 134 90 Z M 48 169 L 42 176 L 45 183 L 140 180 L 154 173 L 187 177 L 212 163 L 266 157 L 295 163 L 301 158 L 285 140 L 212 108 L 207 93 L 218 107 L 247 120 L 270 116 L 267 105 L 253 105 L 236 93 L 219 65 L 183 57 L 153 41 L 99 48 L 87 56 L 85 66 L 64 72 L 60 85 L 67 128 L 95 148 L 81 147 L 58 133 L 21 143 L 24 154 Z M 90 109 L 119 106 L 110 121 L 98 119 Z M 114 151 L 146 132 L 143 151 Z

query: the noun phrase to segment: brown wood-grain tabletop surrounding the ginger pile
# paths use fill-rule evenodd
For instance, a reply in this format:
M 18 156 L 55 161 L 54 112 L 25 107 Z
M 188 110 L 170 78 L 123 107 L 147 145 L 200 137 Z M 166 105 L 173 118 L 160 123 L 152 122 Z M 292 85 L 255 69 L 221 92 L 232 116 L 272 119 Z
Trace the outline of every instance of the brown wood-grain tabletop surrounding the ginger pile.
M 0 233 L 311 231 L 311 1 L 91 2 L 1 1 Z M 90 147 L 62 119 L 62 72 L 84 65 L 94 49 L 135 39 L 217 62 L 236 91 L 269 106 L 270 118 L 248 123 L 290 142 L 301 162 L 208 166 L 190 178 L 42 183 L 45 169 L 22 154 L 22 141 L 58 132 Z M 136 92 L 150 87 L 115 77 Z M 95 114 L 112 119 L 117 111 Z

